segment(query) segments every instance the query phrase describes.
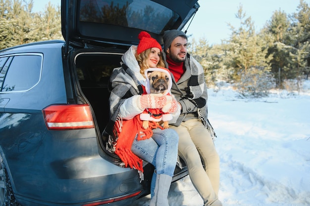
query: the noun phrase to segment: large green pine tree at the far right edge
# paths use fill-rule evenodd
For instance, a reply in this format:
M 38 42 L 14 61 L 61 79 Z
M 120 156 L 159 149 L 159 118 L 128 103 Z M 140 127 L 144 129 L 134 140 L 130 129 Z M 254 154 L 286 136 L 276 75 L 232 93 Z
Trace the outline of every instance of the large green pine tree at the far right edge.
M 290 16 L 292 21 L 284 11 L 275 11 L 264 30 L 265 36 L 271 36 L 268 54 L 273 55 L 272 73 L 280 88 L 286 80 L 309 75 L 310 10 L 303 0 L 298 8 L 299 12 Z

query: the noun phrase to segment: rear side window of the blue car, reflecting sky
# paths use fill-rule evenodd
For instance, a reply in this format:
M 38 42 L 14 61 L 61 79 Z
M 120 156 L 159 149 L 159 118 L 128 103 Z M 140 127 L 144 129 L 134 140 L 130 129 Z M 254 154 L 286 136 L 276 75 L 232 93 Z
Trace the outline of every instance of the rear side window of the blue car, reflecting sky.
M 32 88 L 40 80 L 41 62 L 42 57 L 40 55 L 14 56 L 10 65 L 5 65 L 3 68 L 3 70 L 6 68 L 7 72 L 1 91 L 26 91 Z M 1 71 L 1 76 L 3 74 Z

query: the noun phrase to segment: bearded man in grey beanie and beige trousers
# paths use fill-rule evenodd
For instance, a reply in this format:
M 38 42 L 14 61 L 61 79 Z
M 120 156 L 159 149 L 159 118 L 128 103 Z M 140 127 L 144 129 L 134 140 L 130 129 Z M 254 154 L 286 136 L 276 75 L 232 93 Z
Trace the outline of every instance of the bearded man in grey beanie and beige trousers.
M 179 118 L 170 125 L 179 134 L 179 155 L 204 206 L 222 206 L 218 200 L 219 156 L 213 143 L 215 133 L 207 119 L 204 69 L 187 53 L 184 32 L 165 31 L 163 41 L 166 67 L 172 73 L 171 93 L 182 107 Z

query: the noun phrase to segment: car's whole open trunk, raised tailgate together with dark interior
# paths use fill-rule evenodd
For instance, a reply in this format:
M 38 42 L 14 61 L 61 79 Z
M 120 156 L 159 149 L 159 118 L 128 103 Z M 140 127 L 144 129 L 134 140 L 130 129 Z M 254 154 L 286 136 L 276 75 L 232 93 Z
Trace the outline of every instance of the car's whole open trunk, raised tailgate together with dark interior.
M 63 57 L 74 56 L 77 79 L 91 105 L 99 134 L 100 155 L 116 164 L 120 159 L 106 150 L 109 121 L 108 82 L 121 56 L 139 43 L 141 31 L 148 32 L 162 46 L 164 31 L 181 30 L 199 8 L 198 0 L 61 0 L 61 31 L 66 41 Z M 72 54 L 72 53 L 74 54 Z M 172 181 L 188 174 L 176 167 Z M 154 167 L 147 164 L 144 187 L 149 188 Z M 150 171 L 150 172 L 148 172 Z

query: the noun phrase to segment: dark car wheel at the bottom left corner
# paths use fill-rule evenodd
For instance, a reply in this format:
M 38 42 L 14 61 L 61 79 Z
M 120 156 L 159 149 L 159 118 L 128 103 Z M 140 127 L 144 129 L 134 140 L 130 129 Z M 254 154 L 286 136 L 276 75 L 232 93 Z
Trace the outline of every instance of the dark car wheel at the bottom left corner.
M 10 179 L 7 175 L 3 158 L 0 155 L 0 206 L 20 206 L 12 190 Z

